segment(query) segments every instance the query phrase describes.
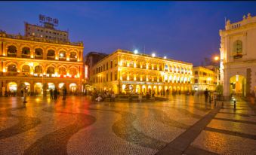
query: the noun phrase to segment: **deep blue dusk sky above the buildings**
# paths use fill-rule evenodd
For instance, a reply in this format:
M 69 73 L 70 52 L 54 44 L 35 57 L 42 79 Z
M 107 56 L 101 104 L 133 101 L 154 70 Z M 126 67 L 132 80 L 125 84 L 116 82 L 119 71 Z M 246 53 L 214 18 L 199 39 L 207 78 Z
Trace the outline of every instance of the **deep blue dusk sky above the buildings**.
M 90 51 L 117 49 L 167 56 L 200 65 L 219 53 L 219 30 L 225 17 L 233 22 L 256 2 L 0 2 L 0 29 L 24 34 L 24 22 L 39 24 L 39 14 L 59 19 L 72 42 Z

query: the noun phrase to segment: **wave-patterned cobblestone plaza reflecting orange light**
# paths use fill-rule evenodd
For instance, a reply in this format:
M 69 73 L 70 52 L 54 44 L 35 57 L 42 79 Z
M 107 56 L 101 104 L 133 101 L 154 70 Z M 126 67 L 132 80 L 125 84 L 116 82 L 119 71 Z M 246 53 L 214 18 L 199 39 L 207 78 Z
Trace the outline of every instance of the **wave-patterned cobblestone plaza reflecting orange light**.
M 256 154 L 256 113 L 248 102 L 56 102 L 0 98 L 0 154 Z

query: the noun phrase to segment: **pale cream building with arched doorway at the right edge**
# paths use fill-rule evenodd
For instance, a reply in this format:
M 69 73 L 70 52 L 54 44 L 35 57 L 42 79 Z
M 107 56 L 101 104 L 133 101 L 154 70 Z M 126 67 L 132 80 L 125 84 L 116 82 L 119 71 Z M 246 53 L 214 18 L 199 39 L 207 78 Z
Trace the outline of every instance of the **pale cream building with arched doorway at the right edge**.
M 248 14 L 236 23 L 227 20 L 220 35 L 224 96 L 248 96 L 256 90 L 256 17 Z

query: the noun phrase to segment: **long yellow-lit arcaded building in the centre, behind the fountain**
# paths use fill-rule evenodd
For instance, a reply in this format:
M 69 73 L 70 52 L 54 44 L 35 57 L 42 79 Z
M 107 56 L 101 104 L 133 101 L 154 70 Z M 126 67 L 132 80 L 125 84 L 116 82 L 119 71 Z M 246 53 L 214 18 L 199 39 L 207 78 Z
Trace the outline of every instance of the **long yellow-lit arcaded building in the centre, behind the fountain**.
M 92 67 L 90 77 L 97 90 L 133 93 L 169 90 L 170 93 L 191 91 L 193 64 L 164 59 L 127 50 L 116 50 Z

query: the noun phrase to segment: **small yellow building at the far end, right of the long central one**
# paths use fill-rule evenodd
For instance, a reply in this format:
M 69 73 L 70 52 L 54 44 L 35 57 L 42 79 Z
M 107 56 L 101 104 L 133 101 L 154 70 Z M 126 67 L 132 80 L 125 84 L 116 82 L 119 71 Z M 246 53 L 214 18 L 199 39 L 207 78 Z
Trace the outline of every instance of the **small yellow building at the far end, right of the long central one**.
M 218 80 L 218 74 L 216 71 L 212 71 L 211 69 L 202 66 L 197 66 L 193 67 L 193 76 L 193 90 L 216 90 Z

